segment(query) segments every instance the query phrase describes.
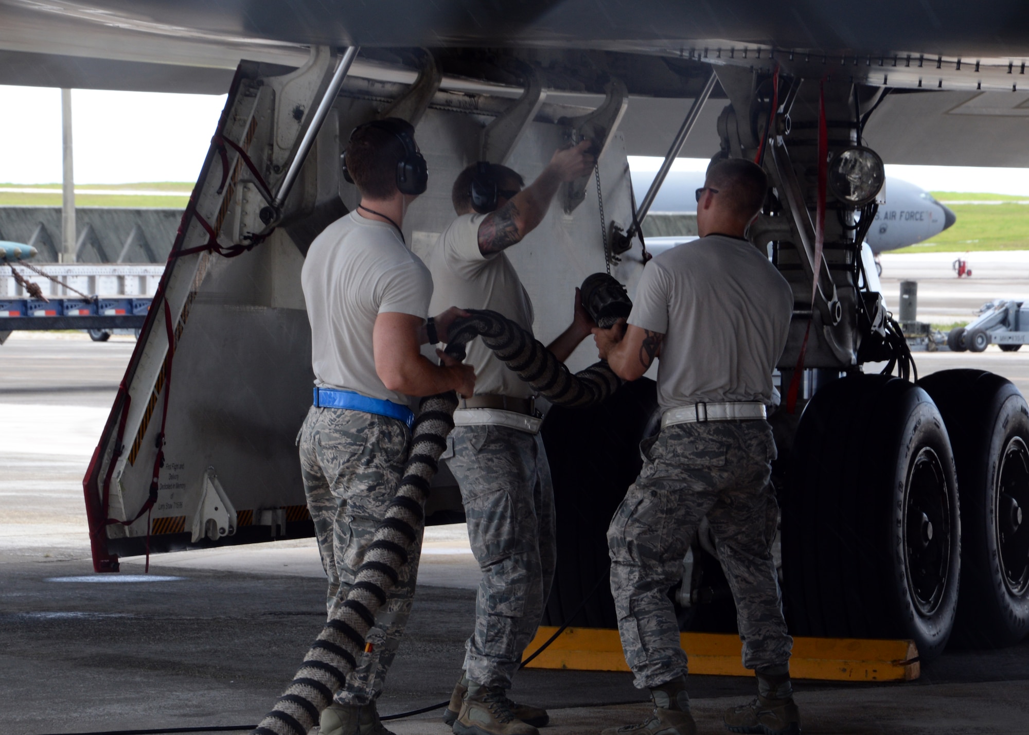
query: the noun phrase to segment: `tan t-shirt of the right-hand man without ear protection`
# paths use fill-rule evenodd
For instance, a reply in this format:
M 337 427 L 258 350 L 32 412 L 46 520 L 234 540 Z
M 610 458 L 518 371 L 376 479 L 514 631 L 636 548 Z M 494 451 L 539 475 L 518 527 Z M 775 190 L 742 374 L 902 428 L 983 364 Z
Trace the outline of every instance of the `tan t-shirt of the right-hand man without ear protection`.
M 772 400 L 772 371 L 786 347 L 793 292 L 745 240 L 710 235 L 643 269 L 629 323 L 665 335 L 658 402 Z

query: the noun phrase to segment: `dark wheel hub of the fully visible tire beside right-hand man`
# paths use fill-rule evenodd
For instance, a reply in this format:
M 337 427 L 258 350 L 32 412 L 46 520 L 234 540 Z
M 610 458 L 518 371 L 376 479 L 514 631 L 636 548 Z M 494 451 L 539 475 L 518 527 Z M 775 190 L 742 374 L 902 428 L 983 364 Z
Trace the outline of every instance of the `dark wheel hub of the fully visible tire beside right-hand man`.
M 951 563 L 951 504 L 939 457 L 924 447 L 912 465 L 904 498 L 904 560 L 908 588 L 919 611 L 939 606 Z

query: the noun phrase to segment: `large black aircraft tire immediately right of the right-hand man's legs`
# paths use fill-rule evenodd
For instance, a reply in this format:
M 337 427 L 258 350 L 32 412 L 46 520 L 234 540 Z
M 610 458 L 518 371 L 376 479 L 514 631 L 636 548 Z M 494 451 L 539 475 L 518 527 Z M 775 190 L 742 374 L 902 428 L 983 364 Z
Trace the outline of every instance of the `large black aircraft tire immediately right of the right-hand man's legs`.
M 936 658 L 957 610 L 960 532 L 950 441 L 924 390 L 857 375 L 815 394 L 782 502 L 794 633 L 912 638 L 922 660 Z M 920 533 L 924 546 L 907 544 Z

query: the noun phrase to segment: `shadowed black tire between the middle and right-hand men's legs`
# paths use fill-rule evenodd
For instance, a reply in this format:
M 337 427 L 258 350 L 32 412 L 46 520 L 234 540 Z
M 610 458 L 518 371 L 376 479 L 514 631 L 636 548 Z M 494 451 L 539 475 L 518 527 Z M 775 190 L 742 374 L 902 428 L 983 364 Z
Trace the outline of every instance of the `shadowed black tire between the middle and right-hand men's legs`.
M 541 433 L 554 479 L 558 562 L 544 625 L 616 628 L 607 527 L 643 464 L 639 443 L 661 425 L 657 384 L 627 383 L 592 409 L 552 407 Z M 582 612 L 568 620 L 597 587 Z

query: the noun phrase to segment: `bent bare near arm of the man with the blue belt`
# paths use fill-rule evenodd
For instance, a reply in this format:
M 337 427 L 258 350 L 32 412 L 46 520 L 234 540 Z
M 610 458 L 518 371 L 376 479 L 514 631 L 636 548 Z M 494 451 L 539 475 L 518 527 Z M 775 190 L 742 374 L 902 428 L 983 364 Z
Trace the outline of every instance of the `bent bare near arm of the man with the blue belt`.
M 384 312 L 376 317 L 371 342 L 376 373 L 383 385 L 406 395 L 456 390 L 470 396 L 475 387 L 474 369 L 447 356 L 443 365 L 427 360 L 419 350 L 422 321 L 420 317 L 399 312 Z

